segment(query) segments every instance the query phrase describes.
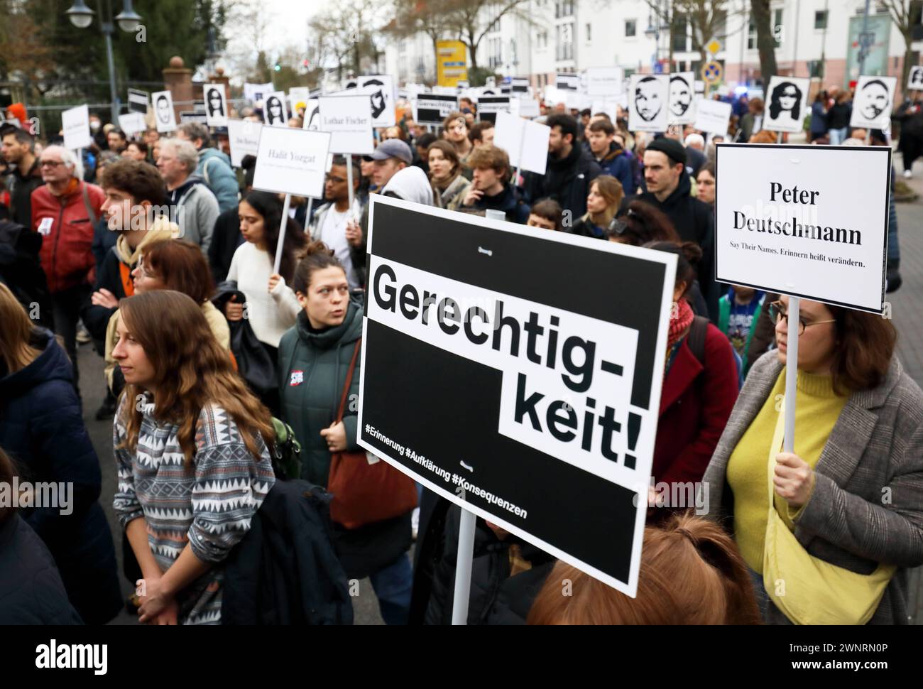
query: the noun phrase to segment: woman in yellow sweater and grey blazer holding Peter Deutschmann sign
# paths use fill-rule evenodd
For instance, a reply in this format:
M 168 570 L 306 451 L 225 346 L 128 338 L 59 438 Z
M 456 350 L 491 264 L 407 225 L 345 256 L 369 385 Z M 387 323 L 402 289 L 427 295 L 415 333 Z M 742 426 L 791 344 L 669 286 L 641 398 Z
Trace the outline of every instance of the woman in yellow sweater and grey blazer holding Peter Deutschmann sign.
M 788 297 L 703 479 L 769 623 L 905 623 L 923 564 L 923 392 L 878 314 L 802 300 L 794 453 L 781 452 Z

